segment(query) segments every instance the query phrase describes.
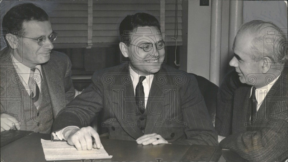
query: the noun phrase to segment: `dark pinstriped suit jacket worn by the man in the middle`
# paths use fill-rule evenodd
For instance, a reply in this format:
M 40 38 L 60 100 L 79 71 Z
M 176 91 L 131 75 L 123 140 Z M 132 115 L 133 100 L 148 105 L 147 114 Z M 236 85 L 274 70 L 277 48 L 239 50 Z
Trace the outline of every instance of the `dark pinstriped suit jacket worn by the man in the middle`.
M 89 126 L 100 111 L 110 138 L 135 140 L 143 135 L 128 64 L 95 72 L 92 84 L 58 114 L 53 131 Z M 218 144 L 197 80 L 186 72 L 162 65 L 154 74 L 145 111 L 144 134 L 157 133 L 178 144 Z

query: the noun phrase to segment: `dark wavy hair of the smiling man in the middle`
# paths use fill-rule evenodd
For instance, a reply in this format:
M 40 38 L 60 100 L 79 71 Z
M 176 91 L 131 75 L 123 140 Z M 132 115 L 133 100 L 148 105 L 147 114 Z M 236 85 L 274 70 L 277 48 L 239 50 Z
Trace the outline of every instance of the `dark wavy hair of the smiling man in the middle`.
M 139 26 L 156 26 L 161 30 L 158 20 L 148 13 L 135 13 L 134 15 L 126 16 L 119 26 L 120 41 L 122 35 L 130 35 L 132 31 Z M 129 32 L 125 32 L 129 31 Z

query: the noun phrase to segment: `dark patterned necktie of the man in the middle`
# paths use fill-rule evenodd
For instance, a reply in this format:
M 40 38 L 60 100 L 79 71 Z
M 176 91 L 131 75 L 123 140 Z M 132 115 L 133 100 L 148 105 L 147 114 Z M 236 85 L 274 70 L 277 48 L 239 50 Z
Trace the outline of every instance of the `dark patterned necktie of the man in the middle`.
M 135 99 L 136 105 L 138 106 L 139 111 L 143 114 L 145 111 L 145 94 L 144 94 L 144 87 L 143 87 L 143 80 L 146 76 L 140 76 L 139 82 L 135 89 Z

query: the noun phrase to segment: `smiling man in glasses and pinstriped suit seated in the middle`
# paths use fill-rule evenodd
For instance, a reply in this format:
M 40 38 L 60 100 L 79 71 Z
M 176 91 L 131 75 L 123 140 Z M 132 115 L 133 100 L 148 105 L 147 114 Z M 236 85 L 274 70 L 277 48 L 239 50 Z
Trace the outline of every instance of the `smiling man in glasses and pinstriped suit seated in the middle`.
M 217 145 L 196 78 L 162 64 L 165 37 L 158 20 L 136 13 L 126 16 L 119 30 L 119 47 L 129 61 L 93 74 L 92 84 L 55 119 L 54 138 L 78 150 L 99 148 L 99 135 L 89 125 L 102 111 L 101 124 L 112 139 Z

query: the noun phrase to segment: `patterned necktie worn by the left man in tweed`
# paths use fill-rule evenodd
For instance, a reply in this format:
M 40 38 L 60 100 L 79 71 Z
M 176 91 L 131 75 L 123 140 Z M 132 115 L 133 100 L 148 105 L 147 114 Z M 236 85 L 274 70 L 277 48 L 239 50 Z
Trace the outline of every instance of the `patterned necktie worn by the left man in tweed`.
M 30 87 L 30 91 L 31 91 L 30 97 L 32 97 L 32 99 L 34 100 L 34 105 L 36 107 L 38 107 L 40 105 L 40 95 L 41 95 L 38 84 L 41 82 L 41 76 L 39 78 L 39 76 L 34 75 L 35 70 L 36 70 L 36 67 L 31 68 L 28 83 L 29 83 L 29 87 Z M 37 70 L 37 71 L 39 71 L 39 70 Z M 40 71 L 39 71 L 39 73 L 40 73 Z

